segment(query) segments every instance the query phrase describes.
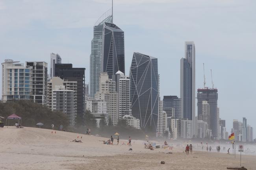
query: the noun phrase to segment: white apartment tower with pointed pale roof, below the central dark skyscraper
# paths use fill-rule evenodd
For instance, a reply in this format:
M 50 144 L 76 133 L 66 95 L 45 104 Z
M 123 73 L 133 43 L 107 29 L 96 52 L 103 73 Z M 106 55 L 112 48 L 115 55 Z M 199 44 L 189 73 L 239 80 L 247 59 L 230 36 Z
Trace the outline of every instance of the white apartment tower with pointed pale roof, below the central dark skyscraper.
M 116 91 L 119 94 L 119 119 L 122 119 L 124 115 L 132 114 L 130 109 L 130 78 L 121 71 L 117 71 L 112 78 L 116 82 Z

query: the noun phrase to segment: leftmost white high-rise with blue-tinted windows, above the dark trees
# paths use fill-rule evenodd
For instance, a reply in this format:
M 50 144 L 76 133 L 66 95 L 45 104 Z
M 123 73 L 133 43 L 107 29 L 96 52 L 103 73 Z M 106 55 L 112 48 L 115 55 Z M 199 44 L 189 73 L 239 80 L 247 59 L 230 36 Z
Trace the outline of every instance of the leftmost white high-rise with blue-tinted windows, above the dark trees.
M 2 100 L 30 99 L 30 68 L 6 59 L 2 63 Z

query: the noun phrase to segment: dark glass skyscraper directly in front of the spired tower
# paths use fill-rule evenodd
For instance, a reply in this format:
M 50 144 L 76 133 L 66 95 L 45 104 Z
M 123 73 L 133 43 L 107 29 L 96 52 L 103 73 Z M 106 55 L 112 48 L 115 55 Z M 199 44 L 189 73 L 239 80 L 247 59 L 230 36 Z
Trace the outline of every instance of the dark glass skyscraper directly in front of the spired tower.
M 112 78 L 117 71 L 124 70 L 124 31 L 112 23 L 103 25 L 102 72 Z

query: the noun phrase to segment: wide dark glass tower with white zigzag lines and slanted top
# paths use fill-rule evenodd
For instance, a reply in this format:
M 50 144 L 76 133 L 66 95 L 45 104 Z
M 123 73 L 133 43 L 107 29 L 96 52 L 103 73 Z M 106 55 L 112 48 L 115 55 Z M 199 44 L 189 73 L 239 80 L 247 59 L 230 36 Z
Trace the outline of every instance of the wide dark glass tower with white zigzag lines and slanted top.
M 159 107 L 157 58 L 134 53 L 130 67 L 130 101 L 132 115 L 140 119 L 141 128 L 156 132 Z

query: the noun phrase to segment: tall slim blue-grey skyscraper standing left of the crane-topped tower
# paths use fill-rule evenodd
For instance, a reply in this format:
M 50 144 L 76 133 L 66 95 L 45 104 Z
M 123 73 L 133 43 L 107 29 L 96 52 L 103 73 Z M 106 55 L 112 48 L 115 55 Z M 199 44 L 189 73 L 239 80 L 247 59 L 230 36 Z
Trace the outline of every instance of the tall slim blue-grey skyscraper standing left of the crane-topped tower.
M 195 132 L 195 44 L 185 42 L 185 58 L 180 60 L 180 98 L 183 119 L 191 120 L 191 135 Z

